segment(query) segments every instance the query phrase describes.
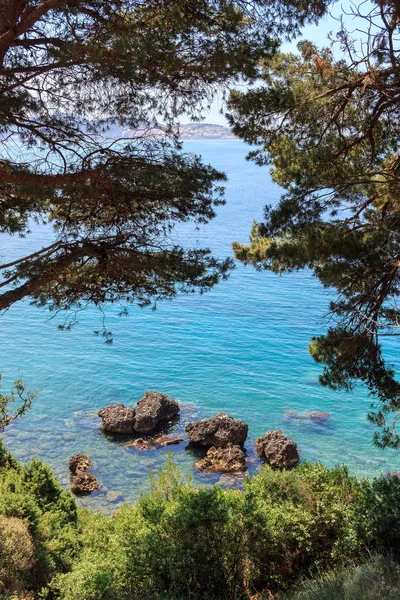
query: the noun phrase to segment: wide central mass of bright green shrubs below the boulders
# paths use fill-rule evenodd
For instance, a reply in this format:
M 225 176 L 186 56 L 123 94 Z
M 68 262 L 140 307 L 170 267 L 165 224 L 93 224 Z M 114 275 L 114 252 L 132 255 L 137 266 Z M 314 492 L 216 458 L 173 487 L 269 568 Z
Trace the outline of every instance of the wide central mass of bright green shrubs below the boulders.
M 240 492 L 193 487 L 169 463 L 135 506 L 82 513 L 82 553 L 53 588 L 63 600 L 239 600 L 288 588 L 360 555 L 362 493 L 342 467 L 264 467 Z

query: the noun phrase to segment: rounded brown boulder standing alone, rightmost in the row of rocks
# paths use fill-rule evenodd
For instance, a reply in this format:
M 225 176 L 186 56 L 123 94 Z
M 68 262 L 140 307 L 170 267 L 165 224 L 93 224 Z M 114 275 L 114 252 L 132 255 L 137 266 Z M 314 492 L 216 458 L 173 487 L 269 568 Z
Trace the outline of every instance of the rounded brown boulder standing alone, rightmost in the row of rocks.
M 296 443 L 280 429 L 267 431 L 256 440 L 256 452 L 273 469 L 293 469 L 300 461 Z

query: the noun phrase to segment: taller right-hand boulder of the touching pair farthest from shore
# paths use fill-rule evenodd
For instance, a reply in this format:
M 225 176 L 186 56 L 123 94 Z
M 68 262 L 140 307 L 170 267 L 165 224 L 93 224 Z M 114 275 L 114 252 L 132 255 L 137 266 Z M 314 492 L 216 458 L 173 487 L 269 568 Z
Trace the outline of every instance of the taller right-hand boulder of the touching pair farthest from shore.
M 179 404 L 175 400 L 159 392 L 146 392 L 136 404 L 133 429 L 136 433 L 149 433 L 178 412 Z

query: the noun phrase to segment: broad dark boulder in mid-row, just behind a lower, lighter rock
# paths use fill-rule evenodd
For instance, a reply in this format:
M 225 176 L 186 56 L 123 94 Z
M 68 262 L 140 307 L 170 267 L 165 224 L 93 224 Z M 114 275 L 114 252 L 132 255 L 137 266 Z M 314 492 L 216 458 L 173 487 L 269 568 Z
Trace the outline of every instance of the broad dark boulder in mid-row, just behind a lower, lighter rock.
M 225 448 L 228 444 L 242 446 L 247 438 L 248 425 L 226 413 L 219 413 L 211 419 L 188 423 L 185 431 L 194 444 Z

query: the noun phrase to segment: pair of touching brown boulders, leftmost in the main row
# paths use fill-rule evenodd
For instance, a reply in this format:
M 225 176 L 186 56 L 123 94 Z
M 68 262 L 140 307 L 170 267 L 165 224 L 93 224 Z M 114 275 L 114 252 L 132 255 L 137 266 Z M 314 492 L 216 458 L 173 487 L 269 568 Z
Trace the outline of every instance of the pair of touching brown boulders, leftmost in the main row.
M 134 408 L 113 404 L 102 408 L 98 415 L 102 429 L 123 435 L 148 434 L 179 412 L 179 404 L 165 394 L 148 391 Z

